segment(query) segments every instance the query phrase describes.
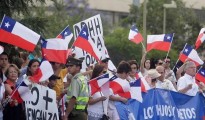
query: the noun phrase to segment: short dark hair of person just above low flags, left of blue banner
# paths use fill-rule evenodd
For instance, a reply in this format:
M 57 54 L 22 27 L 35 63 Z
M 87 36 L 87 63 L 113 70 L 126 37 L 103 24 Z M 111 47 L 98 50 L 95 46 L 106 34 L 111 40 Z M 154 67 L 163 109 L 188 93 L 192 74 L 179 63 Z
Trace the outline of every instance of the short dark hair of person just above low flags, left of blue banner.
M 117 73 L 131 72 L 130 64 L 126 61 L 121 61 L 117 67 Z

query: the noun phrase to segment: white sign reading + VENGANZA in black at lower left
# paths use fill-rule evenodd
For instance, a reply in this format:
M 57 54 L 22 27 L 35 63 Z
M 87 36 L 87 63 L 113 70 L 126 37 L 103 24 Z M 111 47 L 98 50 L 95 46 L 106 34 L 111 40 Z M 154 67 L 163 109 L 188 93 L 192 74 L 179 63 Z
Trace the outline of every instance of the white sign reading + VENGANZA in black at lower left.
M 27 120 L 59 120 L 54 90 L 35 84 L 31 93 L 31 101 L 25 102 Z

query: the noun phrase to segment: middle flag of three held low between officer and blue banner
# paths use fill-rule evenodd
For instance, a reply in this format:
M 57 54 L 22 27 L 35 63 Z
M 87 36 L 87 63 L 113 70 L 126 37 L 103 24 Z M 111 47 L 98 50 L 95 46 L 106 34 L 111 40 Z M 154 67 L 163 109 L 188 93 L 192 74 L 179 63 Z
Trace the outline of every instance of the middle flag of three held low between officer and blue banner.
M 130 91 L 129 82 L 127 80 L 118 78 L 116 75 L 113 75 L 110 78 L 109 84 L 110 84 L 110 90 L 113 92 L 113 94 L 120 94 L 120 93 Z

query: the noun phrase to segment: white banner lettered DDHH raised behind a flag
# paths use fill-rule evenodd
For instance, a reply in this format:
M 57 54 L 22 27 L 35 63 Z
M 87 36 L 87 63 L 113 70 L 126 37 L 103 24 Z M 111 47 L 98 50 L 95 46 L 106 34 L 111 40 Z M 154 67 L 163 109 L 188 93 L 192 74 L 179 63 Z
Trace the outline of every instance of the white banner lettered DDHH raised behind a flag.
M 101 59 L 104 59 L 106 56 L 109 57 L 108 52 L 106 51 L 104 40 L 103 40 L 103 27 L 100 15 L 93 16 L 84 21 L 81 21 L 73 25 L 74 38 L 76 39 L 82 29 L 83 25 L 86 25 L 88 28 L 88 33 L 90 38 L 95 43 L 99 52 L 102 53 Z M 75 47 L 73 53 L 76 54 L 77 58 L 84 57 L 82 68 L 85 69 L 91 64 L 95 64 L 97 61 L 91 57 L 91 55 L 82 49 Z

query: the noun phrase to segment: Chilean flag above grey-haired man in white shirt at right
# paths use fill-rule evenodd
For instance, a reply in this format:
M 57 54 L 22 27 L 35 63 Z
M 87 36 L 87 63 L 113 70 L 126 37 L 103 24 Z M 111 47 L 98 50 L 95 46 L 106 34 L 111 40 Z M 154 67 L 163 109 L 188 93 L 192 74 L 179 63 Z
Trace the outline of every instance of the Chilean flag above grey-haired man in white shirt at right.
M 190 59 L 191 61 L 195 62 L 196 66 L 202 65 L 204 63 L 199 57 L 197 51 L 190 45 L 186 45 L 179 56 L 179 60 L 182 62 L 185 62 L 186 59 Z

